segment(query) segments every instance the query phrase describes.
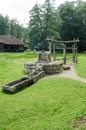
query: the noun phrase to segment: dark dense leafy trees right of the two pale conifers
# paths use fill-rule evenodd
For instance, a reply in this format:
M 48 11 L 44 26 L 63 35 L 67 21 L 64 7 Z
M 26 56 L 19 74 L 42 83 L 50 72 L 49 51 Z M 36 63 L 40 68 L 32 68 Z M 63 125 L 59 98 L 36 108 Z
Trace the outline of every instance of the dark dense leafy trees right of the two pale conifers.
M 63 21 L 61 37 L 65 40 L 79 38 L 79 51 L 86 50 L 86 2 L 65 2 L 59 6 L 59 13 Z

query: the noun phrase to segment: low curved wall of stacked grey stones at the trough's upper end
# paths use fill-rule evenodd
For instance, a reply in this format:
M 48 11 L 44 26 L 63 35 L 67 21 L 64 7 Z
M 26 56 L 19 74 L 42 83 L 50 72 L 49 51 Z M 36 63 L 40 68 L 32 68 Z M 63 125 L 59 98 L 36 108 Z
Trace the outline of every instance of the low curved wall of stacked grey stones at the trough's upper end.
M 44 71 L 45 74 L 55 74 L 63 71 L 63 64 L 57 62 L 49 63 L 25 63 L 24 70 L 26 73 L 32 73 L 34 71 Z

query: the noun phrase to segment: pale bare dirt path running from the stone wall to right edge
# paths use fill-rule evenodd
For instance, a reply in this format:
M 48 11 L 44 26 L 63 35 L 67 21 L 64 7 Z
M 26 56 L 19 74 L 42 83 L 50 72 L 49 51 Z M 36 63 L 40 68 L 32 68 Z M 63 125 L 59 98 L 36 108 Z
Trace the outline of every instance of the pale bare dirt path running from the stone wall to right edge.
M 70 70 L 64 70 L 62 73 L 50 75 L 50 76 L 46 76 L 46 77 L 71 78 L 71 79 L 78 80 L 78 81 L 86 83 L 86 79 L 77 76 L 76 71 L 74 69 L 74 64 L 68 64 L 68 66 L 70 66 Z

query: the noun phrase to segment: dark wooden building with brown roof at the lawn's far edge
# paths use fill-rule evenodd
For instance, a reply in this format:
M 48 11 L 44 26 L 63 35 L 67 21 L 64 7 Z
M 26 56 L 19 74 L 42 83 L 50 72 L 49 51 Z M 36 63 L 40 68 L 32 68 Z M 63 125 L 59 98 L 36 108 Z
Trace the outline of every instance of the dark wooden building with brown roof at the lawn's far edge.
M 15 36 L 0 35 L 0 52 L 22 52 L 24 43 Z

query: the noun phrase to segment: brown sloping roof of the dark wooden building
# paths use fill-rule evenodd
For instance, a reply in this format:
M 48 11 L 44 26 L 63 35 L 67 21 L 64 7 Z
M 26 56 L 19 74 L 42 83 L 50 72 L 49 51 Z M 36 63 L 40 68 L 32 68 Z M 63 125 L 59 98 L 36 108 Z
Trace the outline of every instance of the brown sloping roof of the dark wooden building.
M 9 35 L 0 35 L 0 43 L 11 45 L 24 45 L 24 43 L 21 42 L 21 40 L 19 40 L 15 36 Z

